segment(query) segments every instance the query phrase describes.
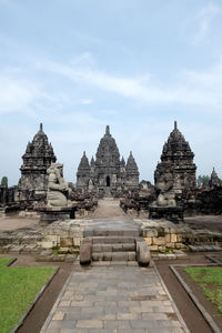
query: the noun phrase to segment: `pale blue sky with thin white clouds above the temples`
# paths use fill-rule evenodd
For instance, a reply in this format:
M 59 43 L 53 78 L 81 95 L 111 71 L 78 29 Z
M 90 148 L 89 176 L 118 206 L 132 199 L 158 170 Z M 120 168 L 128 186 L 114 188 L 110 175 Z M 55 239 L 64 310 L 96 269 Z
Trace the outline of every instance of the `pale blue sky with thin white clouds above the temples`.
M 153 181 L 174 120 L 222 176 L 222 1 L 0 0 L 0 118 L 11 185 L 40 122 L 67 181 L 107 124 Z

